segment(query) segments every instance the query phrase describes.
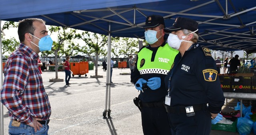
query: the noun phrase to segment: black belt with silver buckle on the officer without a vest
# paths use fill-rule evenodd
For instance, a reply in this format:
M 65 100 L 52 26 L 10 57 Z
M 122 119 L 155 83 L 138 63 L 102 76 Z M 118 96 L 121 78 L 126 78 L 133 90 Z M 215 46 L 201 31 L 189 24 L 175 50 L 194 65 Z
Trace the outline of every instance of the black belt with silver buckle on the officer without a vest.
M 206 104 L 193 105 L 193 106 L 168 106 L 168 105 L 165 105 L 164 107 L 165 107 L 167 113 L 176 113 L 176 114 L 186 113 L 186 116 L 190 117 L 190 116 L 196 115 L 195 114 L 196 111 L 200 111 L 200 110 L 203 110 L 204 108 L 206 108 Z

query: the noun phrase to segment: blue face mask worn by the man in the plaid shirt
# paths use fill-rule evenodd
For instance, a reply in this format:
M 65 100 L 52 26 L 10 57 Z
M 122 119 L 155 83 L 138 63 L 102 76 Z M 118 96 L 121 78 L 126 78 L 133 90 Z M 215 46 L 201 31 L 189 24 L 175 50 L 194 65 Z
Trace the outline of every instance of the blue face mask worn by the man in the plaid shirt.
M 29 33 L 30 34 L 30 33 Z M 32 34 L 30 34 L 32 35 Z M 34 35 L 32 35 L 33 37 L 36 37 Z M 39 39 L 38 37 L 36 37 L 37 39 Z M 32 41 L 30 41 L 31 43 L 33 43 Z M 46 35 L 44 37 L 42 37 L 41 39 L 39 39 L 38 45 L 36 45 L 35 43 L 33 43 L 34 45 L 36 45 L 37 47 L 39 47 L 39 50 L 42 51 L 51 51 L 52 49 L 52 38 L 50 37 L 50 35 Z

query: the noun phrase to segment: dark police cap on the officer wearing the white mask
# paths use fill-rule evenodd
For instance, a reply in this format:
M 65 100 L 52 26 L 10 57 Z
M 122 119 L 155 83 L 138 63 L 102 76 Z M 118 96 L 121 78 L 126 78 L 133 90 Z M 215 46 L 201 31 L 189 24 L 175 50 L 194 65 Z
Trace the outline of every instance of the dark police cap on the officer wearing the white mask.
M 182 29 L 196 31 L 198 29 L 198 23 L 195 20 L 192 20 L 190 18 L 178 17 L 176 18 L 172 26 L 165 28 L 164 31 L 170 33 L 172 31 L 179 31 Z M 198 34 L 198 31 L 196 31 L 195 33 Z

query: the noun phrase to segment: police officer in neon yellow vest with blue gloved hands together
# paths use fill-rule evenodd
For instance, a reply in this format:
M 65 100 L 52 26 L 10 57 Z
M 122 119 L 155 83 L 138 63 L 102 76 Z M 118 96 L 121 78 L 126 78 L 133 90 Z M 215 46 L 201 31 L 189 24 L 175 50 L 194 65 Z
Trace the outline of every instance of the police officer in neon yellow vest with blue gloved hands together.
M 168 117 L 163 105 L 167 90 L 164 78 L 178 51 L 164 38 L 164 18 L 158 15 L 146 18 L 145 39 L 150 45 L 138 52 L 132 81 L 137 90 L 144 135 L 171 135 Z M 135 100 L 135 99 L 134 99 Z M 135 102 L 134 102 L 135 103 Z

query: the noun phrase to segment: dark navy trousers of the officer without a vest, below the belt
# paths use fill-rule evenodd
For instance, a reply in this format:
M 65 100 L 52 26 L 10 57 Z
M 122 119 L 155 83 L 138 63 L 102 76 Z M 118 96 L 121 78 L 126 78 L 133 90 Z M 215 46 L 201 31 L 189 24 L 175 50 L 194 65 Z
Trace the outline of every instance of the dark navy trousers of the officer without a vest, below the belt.
M 211 115 L 208 108 L 195 113 L 190 117 L 186 113 L 168 113 L 172 135 L 210 135 Z

